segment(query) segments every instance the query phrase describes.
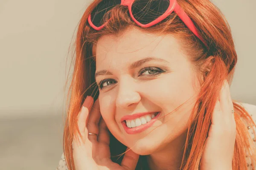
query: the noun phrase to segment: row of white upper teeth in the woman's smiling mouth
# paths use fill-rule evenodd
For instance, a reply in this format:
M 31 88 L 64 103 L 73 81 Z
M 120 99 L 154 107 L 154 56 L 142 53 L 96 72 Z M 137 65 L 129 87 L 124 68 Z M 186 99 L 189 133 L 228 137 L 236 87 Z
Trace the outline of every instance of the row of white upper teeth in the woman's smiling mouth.
M 130 127 L 130 128 L 144 125 L 147 122 L 151 121 L 151 119 L 153 119 L 156 116 L 156 114 L 157 113 L 151 113 L 151 114 L 147 114 L 145 116 L 141 116 L 134 120 L 126 120 L 126 125 L 127 125 L 127 127 Z

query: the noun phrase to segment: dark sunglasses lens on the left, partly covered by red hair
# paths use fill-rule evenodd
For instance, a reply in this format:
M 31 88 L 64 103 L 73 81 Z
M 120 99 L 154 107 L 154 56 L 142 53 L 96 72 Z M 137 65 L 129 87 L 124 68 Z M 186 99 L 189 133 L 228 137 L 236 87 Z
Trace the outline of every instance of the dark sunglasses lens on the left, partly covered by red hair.
M 93 25 L 96 27 L 102 26 L 104 14 L 120 3 L 121 0 L 102 0 L 91 13 Z

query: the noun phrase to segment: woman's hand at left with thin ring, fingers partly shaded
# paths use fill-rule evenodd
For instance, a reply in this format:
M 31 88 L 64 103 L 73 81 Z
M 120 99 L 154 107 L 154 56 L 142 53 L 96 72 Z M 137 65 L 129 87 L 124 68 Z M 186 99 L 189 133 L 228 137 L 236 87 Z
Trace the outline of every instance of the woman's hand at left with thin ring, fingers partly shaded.
M 87 96 L 77 124 L 82 138 L 78 134 L 78 140 L 73 140 L 76 170 L 135 170 L 139 155 L 132 150 L 125 153 L 121 165 L 111 161 L 108 127 L 102 119 L 98 99 L 93 104 L 93 98 Z M 88 135 L 89 132 L 98 136 Z

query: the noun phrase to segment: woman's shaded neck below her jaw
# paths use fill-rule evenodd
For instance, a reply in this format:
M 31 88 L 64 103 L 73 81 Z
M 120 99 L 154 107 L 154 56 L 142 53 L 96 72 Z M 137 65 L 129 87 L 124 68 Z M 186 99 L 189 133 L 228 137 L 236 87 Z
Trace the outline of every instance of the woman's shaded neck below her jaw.
M 183 133 L 165 147 L 148 155 L 147 162 L 150 170 L 179 170 L 185 142 L 186 133 Z

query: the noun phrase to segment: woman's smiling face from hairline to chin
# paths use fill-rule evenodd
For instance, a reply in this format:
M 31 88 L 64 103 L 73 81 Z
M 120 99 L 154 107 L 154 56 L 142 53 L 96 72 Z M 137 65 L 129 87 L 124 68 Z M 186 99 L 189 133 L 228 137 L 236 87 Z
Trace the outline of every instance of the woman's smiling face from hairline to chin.
M 96 74 L 96 82 L 102 81 L 102 117 L 135 153 L 162 150 L 186 132 L 200 85 L 175 37 L 135 28 L 117 38 L 103 36 L 96 47 Z

